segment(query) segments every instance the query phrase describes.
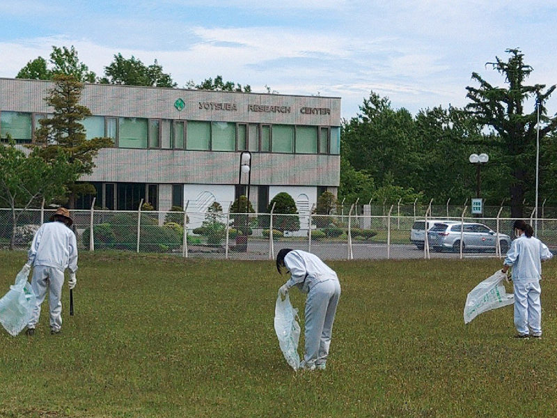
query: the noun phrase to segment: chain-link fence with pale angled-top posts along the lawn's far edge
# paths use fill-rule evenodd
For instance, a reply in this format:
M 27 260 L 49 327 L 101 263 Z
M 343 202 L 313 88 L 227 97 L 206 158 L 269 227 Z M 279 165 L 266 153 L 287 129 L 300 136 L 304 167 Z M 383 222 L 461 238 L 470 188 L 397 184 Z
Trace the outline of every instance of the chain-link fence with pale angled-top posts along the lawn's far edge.
M 29 249 L 33 235 L 54 211 L 0 209 L 1 248 Z M 508 217 L 463 217 L 462 210 L 460 216 L 432 215 L 428 218 L 458 224 L 451 229 L 460 233 L 438 227 L 426 235 L 423 216 L 393 212 L 394 208 L 386 215 L 350 210 L 339 215 L 73 210 L 72 229 L 80 251 L 246 260 L 272 259 L 282 248 L 304 249 L 327 260 L 501 257 L 514 238 L 514 219 Z M 557 252 L 557 219 L 529 220 L 538 238 Z M 440 237 L 453 237 L 453 242 L 441 245 Z

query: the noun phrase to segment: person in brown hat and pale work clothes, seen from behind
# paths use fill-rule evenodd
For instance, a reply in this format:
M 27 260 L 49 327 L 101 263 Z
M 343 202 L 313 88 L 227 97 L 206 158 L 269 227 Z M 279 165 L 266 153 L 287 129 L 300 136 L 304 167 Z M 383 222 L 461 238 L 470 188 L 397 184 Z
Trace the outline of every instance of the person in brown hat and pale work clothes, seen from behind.
M 70 229 L 72 218 L 70 211 L 58 208 L 50 218 L 52 222 L 42 224 L 33 238 L 28 261 L 24 268 L 29 271 L 33 266 L 31 287 L 37 298 L 33 309 L 33 316 L 27 324 L 27 335 L 35 334 L 35 327 L 39 321 L 40 305 L 44 302 L 49 291 L 50 333 L 58 334 L 62 327 L 62 286 L 64 271 L 70 270 L 70 289 L 77 283 L 77 240 Z

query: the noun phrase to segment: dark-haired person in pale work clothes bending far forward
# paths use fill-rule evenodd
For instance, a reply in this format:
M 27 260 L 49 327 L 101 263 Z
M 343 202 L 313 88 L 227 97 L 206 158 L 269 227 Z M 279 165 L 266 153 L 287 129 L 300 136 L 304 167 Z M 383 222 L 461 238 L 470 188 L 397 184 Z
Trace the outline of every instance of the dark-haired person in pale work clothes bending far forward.
M 296 286 L 307 293 L 305 309 L 304 360 L 300 369 L 324 370 L 331 346 L 331 334 L 336 307 L 340 297 L 340 283 L 336 272 L 314 254 L 300 249 L 281 249 L 276 256 L 276 270 L 290 272 L 290 279 L 279 289 L 281 295 Z

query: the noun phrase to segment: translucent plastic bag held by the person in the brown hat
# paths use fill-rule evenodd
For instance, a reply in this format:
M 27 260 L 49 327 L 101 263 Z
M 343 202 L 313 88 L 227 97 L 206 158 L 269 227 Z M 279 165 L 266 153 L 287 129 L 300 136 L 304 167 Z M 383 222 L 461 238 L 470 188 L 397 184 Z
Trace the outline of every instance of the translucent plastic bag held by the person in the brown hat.
M 15 277 L 15 284 L 0 299 L 0 323 L 6 331 L 16 336 L 31 320 L 36 305 L 36 297 L 27 281 L 29 270 L 21 270 Z

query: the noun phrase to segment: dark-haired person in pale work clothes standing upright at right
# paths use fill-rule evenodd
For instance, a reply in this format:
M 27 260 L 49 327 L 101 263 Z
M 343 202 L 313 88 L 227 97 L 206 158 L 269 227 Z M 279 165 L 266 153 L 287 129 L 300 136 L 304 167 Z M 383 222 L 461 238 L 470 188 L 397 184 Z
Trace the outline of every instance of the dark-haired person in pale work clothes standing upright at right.
M 540 279 L 542 263 L 553 257 L 543 242 L 534 238 L 532 226 L 522 220 L 513 225 L 516 239 L 512 241 L 503 261 L 503 273 L 512 267 L 512 287 L 515 295 L 516 338 L 542 337 L 542 304 Z

